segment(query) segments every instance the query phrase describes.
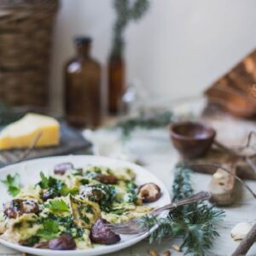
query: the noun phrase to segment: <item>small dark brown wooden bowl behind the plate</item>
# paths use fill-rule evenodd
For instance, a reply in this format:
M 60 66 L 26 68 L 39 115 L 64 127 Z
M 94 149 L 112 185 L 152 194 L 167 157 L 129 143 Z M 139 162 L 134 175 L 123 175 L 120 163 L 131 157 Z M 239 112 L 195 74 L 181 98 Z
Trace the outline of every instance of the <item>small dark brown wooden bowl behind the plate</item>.
M 178 122 L 170 127 L 172 143 L 184 158 L 193 159 L 211 148 L 216 132 L 207 125 Z

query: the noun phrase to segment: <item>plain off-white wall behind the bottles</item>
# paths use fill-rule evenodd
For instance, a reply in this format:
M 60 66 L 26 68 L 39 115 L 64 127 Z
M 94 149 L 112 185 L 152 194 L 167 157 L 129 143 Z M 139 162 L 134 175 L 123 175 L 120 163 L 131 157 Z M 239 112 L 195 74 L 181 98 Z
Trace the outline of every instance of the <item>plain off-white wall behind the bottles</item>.
M 151 0 L 148 14 L 125 32 L 127 82 L 149 96 L 201 94 L 256 47 L 255 0 Z M 90 35 L 92 54 L 106 66 L 114 20 L 111 0 L 61 0 L 56 20 L 51 108 L 61 113 L 62 68 L 73 37 Z

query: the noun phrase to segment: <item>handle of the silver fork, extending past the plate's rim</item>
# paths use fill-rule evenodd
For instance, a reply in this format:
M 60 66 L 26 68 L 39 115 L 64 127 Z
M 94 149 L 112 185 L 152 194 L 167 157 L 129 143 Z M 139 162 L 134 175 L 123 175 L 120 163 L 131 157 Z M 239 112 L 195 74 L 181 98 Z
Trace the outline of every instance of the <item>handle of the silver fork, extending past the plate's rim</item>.
M 166 210 L 172 210 L 175 209 L 177 207 L 181 207 L 184 205 L 189 205 L 191 203 L 194 203 L 196 201 L 205 201 L 211 198 L 211 193 L 207 192 L 207 191 L 201 191 L 195 195 L 191 195 L 185 199 L 179 200 L 179 201 L 175 201 L 172 202 L 171 204 L 168 204 L 164 207 L 159 207 L 157 209 L 155 209 L 153 212 L 150 213 L 150 215 L 152 216 L 157 216 L 158 214 L 160 214 L 160 212 L 164 212 Z

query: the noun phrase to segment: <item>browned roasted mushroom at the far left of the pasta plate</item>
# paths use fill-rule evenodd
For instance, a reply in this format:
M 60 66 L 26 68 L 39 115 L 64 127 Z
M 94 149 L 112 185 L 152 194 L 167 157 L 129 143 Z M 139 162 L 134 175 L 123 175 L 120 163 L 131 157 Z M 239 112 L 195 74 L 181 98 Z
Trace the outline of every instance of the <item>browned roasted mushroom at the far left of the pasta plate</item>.
M 30 199 L 14 199 L 9 204 L 3 205 L 3 213 L 8 218 L 17 218 L 23 213 L 35 213 L 39 211 L 38 203 Z

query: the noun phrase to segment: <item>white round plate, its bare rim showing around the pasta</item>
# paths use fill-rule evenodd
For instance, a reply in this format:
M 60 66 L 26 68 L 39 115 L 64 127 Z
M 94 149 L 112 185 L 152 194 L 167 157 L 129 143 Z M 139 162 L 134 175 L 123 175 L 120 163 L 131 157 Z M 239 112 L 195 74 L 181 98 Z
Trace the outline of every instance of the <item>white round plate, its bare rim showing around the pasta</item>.
M 123 160 L 113 160 L 106 157 L 99 156 L 87 156 L 87 155 L 67 155 L 67 156 L 57 156 L 57 157 L 48 157 L 38 160 L 29 160 L 20 164 L 15 164 L 13 166 L 7 166 L 1 169 L 0 171 L 0 180 L 5 179 L 6 175 L 14 175 L 16 172 L 20 173 L 21 185 L 37 183 L 40 179 L 39 173 L 43 171 L 44 173 L 50 174 L 53 167 L 56 164 L 62 162 L 71 162 L 75 167 L 82 167 L 86 165 L 98 165 L 98 166 L 109 166 L 109 167 L 118 167 L 118 166 L 127 166 L 130 167 L 134 172 L 136 172 L 136 183 L 138 185 L 148 182 L 154 182 L 160 186 L 162 191 L 162 196 L 160 200 L 151 203 L 150 206 L 159 207 L 165 204 L 170 203 L 171 198 L 168 190 L 164 184 L 155 177 L 151 172 L 148 172 L 141 166 L 123 161 Z M 4 202 L 10 201 L 11 197 L 7 193 L 6 187 L 3 183 L 0 185 L 0 205 L 2 206 Z M 165 215 L 165 213 L 163 213 Z M 91 256 L 91 255 L 102 255 L 105 253 L 113 253 L 119 251 L 125 247 L 130 247 L 131 245 L 142 241 L 148 233 L 143 234 L 142 236 L 121 236 L 121 241 L 119 243 L 110 245 L 110 246 L 96 246 L 87 250 L 77 250 L 77 251 L 52 251 L 48 249 L 36 249 L 31 247 L 23 247 L 17 244 L 13 244 L 9 241 L 4 241 L 0 239 L 0 243 L 7 247 L 11 247 L 15 250 L 32 253 L 35 255 L 45 255 L 45 256 L 54 256 L 54 255 L 69 255 L 69 256 Z

